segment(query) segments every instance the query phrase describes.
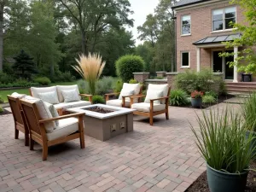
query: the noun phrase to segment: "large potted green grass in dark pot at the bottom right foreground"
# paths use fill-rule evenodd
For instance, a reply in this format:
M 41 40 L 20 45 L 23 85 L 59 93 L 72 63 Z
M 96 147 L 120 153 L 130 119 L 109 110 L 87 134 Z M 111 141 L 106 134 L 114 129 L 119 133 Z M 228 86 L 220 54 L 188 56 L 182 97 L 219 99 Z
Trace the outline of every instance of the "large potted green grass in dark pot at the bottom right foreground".
M 226 108 L 202 112 L 197 117 L 199 131 L 191 125 L 196 145 L 207 163 L 207 182 L 211 192 L 243 192 L 248 166 L 253 160 L 251 134 L 245 138 L 241 115 Z

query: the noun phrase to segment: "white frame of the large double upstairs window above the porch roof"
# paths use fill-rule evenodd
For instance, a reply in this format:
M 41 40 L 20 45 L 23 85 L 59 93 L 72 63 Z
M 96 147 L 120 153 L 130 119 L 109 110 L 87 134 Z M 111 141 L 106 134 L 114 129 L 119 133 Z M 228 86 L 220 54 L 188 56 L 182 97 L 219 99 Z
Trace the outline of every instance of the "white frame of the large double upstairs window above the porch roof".
M 237 23 L 237 9 L 236 9 L 236 6 L 225 7 L 225 8 L 222 8 L 222 9 L 219 9 L 219 8 L 218 8 L 218 9 L 212 9 L 212 32 L 225 32 L 225 31 L 232 31 L 232 30 L 236 29 L 235 27 L 226 29 L 226 19 L 232 19 L 232 18 L 234 18 L 234 17 L 226 18 L 226 16 L 225 16 L 225 14 L 226 14 L 225 10 L 226 10 L 226 9 L 230 9 L 230 8 L 235 8 L 235 13 L 236 13 L 236 15 L 235 15 L 235 20 L 236 20 L 236 23 Z M 214 16 L 214 15 L 213 15 L 213 12 L 214 12 L 215 10 L 222 10 L 222 15 L 223 15 L 223 17 L 222 17 L 223 29 L 214 30 L 213 22 L 214 22 L 214 21 L 217 21 L 217 20 L 213 20 L 213 16 Z

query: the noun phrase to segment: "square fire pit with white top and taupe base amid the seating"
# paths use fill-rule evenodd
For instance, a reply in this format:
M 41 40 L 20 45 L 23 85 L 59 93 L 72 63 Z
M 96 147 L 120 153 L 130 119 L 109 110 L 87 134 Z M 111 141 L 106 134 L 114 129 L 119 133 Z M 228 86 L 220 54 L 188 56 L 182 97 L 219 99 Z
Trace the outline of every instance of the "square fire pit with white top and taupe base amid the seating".
M 102 104 L 67 109 L 69 113 L 84 113 L 84 134 L 103 142 L 133 131 L 134 111 Z

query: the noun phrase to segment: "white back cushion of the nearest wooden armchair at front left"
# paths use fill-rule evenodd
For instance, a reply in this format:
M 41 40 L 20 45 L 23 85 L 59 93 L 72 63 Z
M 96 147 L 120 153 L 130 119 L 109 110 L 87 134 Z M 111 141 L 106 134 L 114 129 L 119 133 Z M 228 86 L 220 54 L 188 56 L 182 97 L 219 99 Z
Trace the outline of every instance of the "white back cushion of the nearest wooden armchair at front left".
M 44 102 L 41 99 L 32 97 L 32 96 L 25 96 L 24 100 L 26 102 L 35 103 L 38 108 L 38 113 L 41 119 L 51 119 L 53 118 L 51 113 L 49 112 L 49 108 L 44 104 Z M 55 123 L 49 122 L 44 124 L 45 131 L 46 132 L 53 132 L 55 130 Z

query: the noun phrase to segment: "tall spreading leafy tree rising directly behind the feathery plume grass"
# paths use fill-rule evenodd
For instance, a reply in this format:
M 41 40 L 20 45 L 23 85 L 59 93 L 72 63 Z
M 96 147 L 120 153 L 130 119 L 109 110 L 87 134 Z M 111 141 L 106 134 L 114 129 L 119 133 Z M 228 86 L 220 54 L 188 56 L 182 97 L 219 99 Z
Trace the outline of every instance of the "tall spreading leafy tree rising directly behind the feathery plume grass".
M 133 25 L 129 0 L 56 0 L 67 10 L 70 21 L 81 34 L 82 52 L 94 52 L 99 36 L 109 28 Z

